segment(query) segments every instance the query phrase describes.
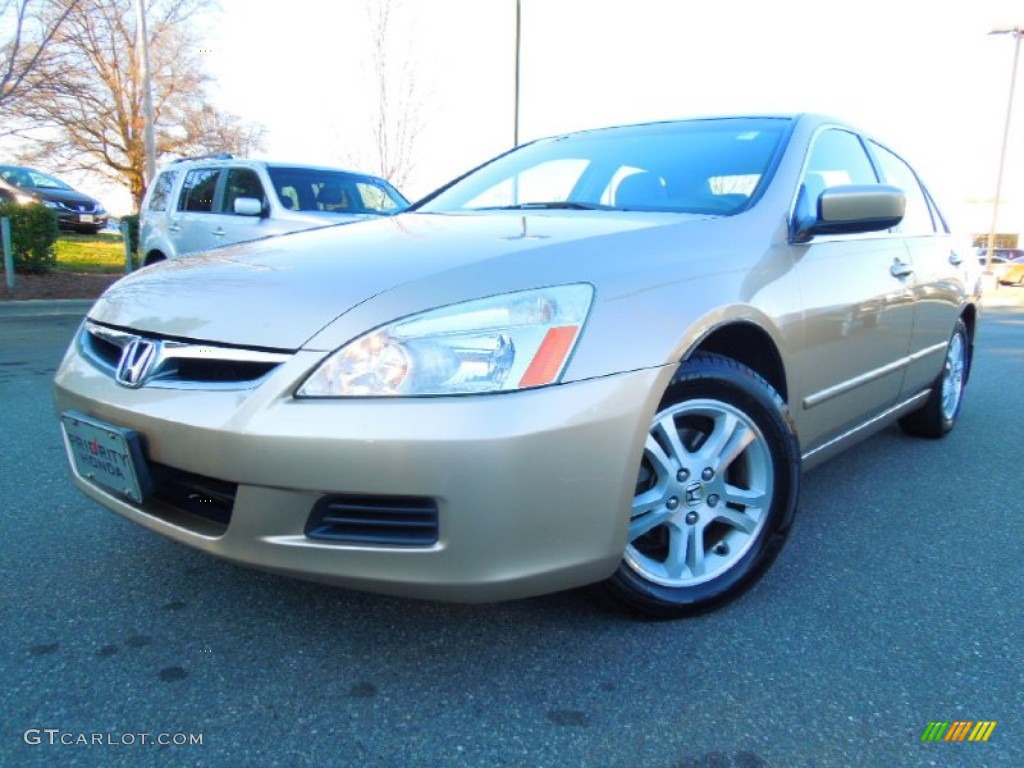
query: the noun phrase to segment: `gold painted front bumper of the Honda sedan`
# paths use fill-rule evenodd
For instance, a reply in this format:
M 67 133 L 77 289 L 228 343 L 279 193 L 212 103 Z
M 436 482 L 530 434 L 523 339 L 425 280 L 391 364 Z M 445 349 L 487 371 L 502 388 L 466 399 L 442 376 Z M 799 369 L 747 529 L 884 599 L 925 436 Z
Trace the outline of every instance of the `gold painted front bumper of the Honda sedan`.
M 649 420 L 674 367 L 497 395 L 296 400 L 323 353 L 255 389 L 128 389 L 73 346 L 55 382 L 76 410 L 142 435 L 150 462 L 238 483 L 223 526 L 74 472 L 115 512 L 220 557 L 409 597 L 492 601 L 599 581 L 617 566 Z M 429 498 L 427 546 L 306 536 L 326 496 Z

